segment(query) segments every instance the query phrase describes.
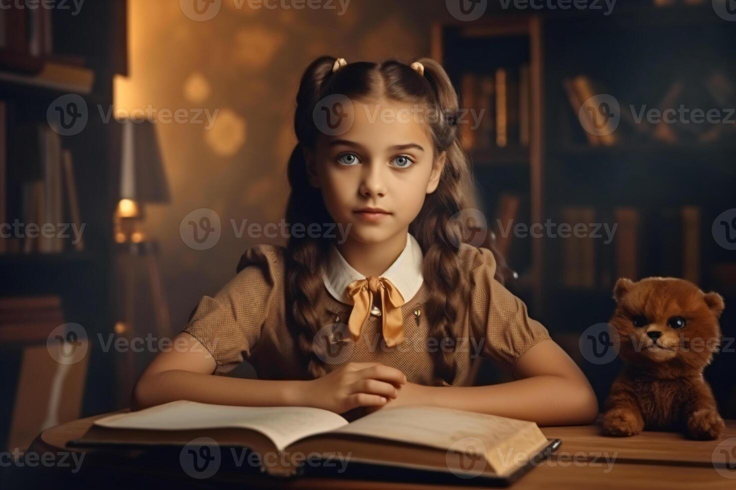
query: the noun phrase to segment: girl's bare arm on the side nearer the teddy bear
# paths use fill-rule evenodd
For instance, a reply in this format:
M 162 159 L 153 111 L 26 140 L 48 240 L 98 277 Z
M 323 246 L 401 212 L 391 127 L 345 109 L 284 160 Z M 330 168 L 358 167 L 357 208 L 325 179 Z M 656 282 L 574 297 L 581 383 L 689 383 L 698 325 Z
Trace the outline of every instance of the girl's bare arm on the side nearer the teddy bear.
M 538 425 L 587 425 L 598 417 L 598 400 L 587 378 L 551 339 L 523 353 L 514 367 L 514 378 L 520 379 L 489 386 L 406 383 L 383 408 L 433 405 L 531 420 Z

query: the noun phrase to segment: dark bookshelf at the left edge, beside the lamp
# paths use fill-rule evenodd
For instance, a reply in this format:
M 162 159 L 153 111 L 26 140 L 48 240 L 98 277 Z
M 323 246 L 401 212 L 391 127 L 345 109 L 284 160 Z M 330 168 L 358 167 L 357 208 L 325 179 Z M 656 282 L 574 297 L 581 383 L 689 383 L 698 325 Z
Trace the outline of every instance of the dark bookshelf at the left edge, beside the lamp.
M 54 234 L 68 235 L 54 237 L 55 243 L 29 238 L 27 226 L 0 238 L 0 298 L 57 296 L 64 321 L 83 325 L 90 338 L 113 331 L 116 202 L 111 164 L 118 135 L 116 125 L 99 117 L 98 107 L 113 106 L 113 77 L 126 73 L 126 9 L 126 1 L 119 0 L 85 2 L 75 15 L 15 4 L 0 12 L 0 223 L 85 225 L 82 246 L 72 243 L 68 226 L 54 228 Z M 68 94 L 85 101 L 88 122 L 76 134 L 65 135 L 52 129 L 47 112 Z M 65 173 L 65 154 L 71 176 Z M 47 192 L 57 192 L 43 206 L 44 214 L 31 212 L 38 193 L 29 192 L 32 185 L 26 184 L 34 181 L 45 201 Z M 0 345 L 6 373 L 0 386 L 2 420 L 11 419 L 18 394 L 21 347 Z M 115 359 L 94 348 L 89 356 L 82 415 L 117 408 L 110 401 Z M 0 444 L 7 441 L 8 430 L 0 427 Z

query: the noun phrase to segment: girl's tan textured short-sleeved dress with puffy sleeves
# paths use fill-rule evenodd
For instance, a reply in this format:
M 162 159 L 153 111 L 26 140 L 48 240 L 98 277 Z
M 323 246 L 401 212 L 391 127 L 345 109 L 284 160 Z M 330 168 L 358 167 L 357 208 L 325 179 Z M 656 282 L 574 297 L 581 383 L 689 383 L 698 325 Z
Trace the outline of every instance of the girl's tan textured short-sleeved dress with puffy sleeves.
M 249 362 L 259 379 L 308 379 L 294 337 L 286 327 L 284 253 L 276 245 L 249 248 L 238 274 L 215 295 L 199 300 L 183 331 L 204 345 L 217 363 L 214 374 L 224 375 Z M 528 317 L 526 305 L 493 278 L 495 259 L 486 248 L 463 244 L 461 267 L 471 271 L 472 293 L 459 312 L 461 331 L 456 339 L 457 372 L 451 385 L 468 386 L 470 368 L 478 356 L 490 356 L 512 370 L 530 347 L 548 339 L 547 329 Z M 317 301 L 324 327 L 315 336 L 315 348 L 328 372 L 344 362 L 380 362 L 401 370 L 409 382 L 433 384 L 434 351 L 448 349 L 451 339 L 428 339 L 428 300 L 424 282 L 402 307 L 405 340 L 386 347 L 381 317 L 369 315 L 354 342 L 347 332 L 353 306 L 336 300 L 322 287 Z M 443 343 L 444 342 L 444 343 Z

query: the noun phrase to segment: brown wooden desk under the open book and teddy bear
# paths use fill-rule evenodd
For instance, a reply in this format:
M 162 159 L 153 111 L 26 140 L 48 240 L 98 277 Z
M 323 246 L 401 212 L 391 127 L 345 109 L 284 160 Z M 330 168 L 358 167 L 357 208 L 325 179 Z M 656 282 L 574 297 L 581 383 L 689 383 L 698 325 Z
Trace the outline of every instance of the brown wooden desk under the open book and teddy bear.
M 105 414 L 107 415 L 107 414 Z M 68 451 L 65 445 L 87 430 L 94 419 L 89 417 L 43 431 L 29 447 L 35 453 Z M 734 489 L 736 488 L 736 468 L 721 466 L 715 469 L 712 455 L 715 448 L 725 447 L 732 455 L 736 454 L 736 421 L 727 421 L 725 433 L 718 441 L 697 442 L 684 439 L 676 433 L 645 432 L 630 438 L 609 438 L 598 433 L 599 425 L 548 427 L 542 428 L 546 436 L 562 439 L 562 446 L 556 455 L 531 469 L 527 475 L 512 486 L 515 490 L 527 489 Z M 724 441 L 726 441 L 724 443 Z M 719 446 L 719 444 L 721 444 Z M 130 458 L 115 453 L 114 458 L 99 450 L 88 450 L 82 471 L 77 475 L 60 469 L 44 469 L 45 484 L 60 488 L 62 481 L 70 480 L 70 487 L 88 488 L 148 488 L 149 486 L 176 483 L 183 487 L 197 488 L 289 488 L 289 489 L 421 489 L 428 486 L 408 483 L 380 483 L 375 481 L 294 478 L 284 480 L 269 478 L 266 475 L 247 475 L 243 472 L 217 473 L 206 480 L 195 480 L 183 473 L 180 467 L 164 467 L 155 462 L 141 459 L 141 451 L 130 452 Z M 133 454 L 135 453 L 135 454 Z M 606 459 L 607 458 L 607 459 Z M 731 460 L 736 466 L 736 458 Z M 27 472 L 26 472 L 27 473 Z M 34 472 L 40 474 L 41 471 Z M 35 475 L 34 475 L 35 477 Z M 28 475 L 23 475 L 28 478 Z M 49 478 L 51 480 L 49 480 Z M 145 480 L 146 485 L 140 481 Z M 26 488 L 26 480 L 22 481 Z M 32 483 L 37 483 L 36 481 Z M 38 482 L 40 483 L 40 482 Z M 118 486 L 119 485 L 119 486 Z M 10 487 L 12 488 L 12 487 Z M 63 487 L 66 488 L 66 487 Z M 438 488 L 438 486 L 434 486 Z M 443 488 L 446 488 L 443 486 Z M 469 481 L 456 488 L 481 488 Z

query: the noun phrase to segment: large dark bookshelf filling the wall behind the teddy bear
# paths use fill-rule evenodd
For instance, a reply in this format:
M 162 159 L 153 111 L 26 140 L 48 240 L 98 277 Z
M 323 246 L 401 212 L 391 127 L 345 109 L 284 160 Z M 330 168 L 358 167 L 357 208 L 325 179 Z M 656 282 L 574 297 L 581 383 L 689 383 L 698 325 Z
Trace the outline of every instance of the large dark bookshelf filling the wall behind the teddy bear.
M 528 146 L 469 149 L 489 223 L 503 207 L 501 195 L 511 192 L 520 198 L 516 220 L 523 223 L 549 218 L 621 227 L 608 244 L 545 236 L 514 237 L 510 245 L 509 261 L 528 281 L 512 290 L 573 359 L 585 364 L 601 400 L 618 363 L 586 364 L 577 342 L 585 328 L 609 320 L 620 275 L 683 277 L 736 304 L 735 252 L 721 248 L 711 231 L 715 217 L 735 206 L 736 124 L 672 124 L 662 133 L 631 117 L 643 106 L 736 107 L 729 53 L 735 41 L 733 23 L 716 15 L 710 1 L 662 7 L 629 2 L 608 16 L 489 4 L 478 21 L 448 18 L 432 29 L 432 54 L 464 101 L 468 73 L 530 67 L 528 118 L 536 129 Z M 594 142 L 584 130 L 566 89 L 576 77 L 594 94 L 611 94 L 620 103 L 612 139 Z M 585 270 L 581 276 L 570 275 L 579 269 Z M 723 336 L 736 336 L 735 317 L 726 307 Z M 721 353 L 706 371 L 724 417 L 736 415 L 736 387 L 727 369 L 734 359 Z

